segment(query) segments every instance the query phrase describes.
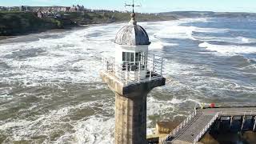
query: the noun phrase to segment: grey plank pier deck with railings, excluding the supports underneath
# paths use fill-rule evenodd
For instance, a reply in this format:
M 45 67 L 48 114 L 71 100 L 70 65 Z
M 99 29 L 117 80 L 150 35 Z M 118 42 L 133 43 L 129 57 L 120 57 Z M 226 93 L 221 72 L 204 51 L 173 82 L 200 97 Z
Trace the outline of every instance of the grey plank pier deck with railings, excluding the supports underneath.
M 254 122 L 251 130 L 256 129 L 256 106 L 198 109 L 174 129 L 163 143 L 197 143 L 216 120 L 225 117 L 230 119 L 230 123 L 234 117 L 241 117 L 242 126 L 245 119 L 250 118 Z

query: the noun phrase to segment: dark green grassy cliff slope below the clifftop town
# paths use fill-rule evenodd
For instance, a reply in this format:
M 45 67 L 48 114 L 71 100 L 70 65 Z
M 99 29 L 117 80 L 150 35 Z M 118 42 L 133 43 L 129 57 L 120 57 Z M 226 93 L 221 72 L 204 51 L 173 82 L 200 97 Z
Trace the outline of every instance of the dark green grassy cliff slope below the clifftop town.
M 64 13 L 62 13 L 64 15 Z M 137 14 L 138 21 L 163 21 L 176 19 L 173 16 Z M 31 12 L 0 12 L 0 36 L 33 33 L 93 23 L 129 21 L 129 13 L 85 12 L 66 13 L 66 18 L 38 18 Z

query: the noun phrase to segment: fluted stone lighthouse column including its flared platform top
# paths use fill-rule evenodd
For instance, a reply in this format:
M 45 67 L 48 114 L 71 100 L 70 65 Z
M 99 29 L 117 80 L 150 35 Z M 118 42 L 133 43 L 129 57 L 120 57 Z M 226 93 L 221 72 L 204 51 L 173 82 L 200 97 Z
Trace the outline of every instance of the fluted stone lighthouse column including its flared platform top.
M 115 94 L 115 144 L 146 144 L 146 95 L 164 86 L 166 78 L 127 86 L 104 71 L 101 77 Z

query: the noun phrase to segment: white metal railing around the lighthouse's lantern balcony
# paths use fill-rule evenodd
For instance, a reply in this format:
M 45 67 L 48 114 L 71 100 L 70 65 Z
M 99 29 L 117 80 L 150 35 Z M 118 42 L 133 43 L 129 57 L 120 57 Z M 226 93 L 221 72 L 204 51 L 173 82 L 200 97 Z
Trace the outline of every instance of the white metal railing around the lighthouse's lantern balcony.
M 116 63 L 114 58 L 102 58 L 103 71 L 125 85 L 161 78 L 163 58 L 149 54 L 147 61 Z

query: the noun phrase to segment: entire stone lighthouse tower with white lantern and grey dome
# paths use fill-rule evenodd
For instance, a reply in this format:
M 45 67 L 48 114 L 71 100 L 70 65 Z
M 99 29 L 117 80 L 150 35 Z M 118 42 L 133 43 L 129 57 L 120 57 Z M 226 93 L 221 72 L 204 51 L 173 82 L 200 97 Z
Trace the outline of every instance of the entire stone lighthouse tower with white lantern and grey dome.
M 162 58 L 148 54 L 148 34 L 138 26 L 135 14 L 115 38 L 114 58 L 103 58 L 100 71 L 115 94 L 115 144 L 146 143 L 146 96 L 164 86 Z

